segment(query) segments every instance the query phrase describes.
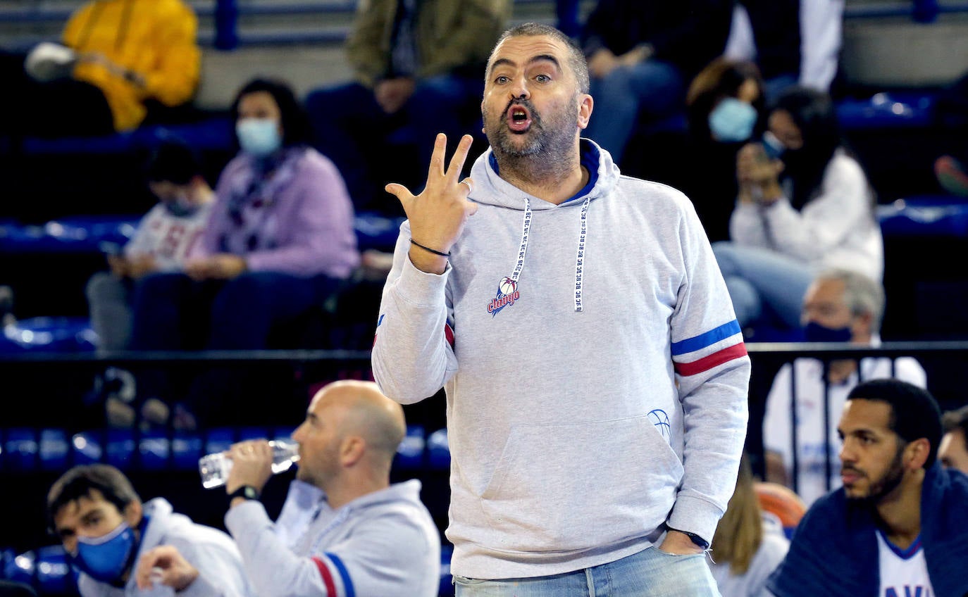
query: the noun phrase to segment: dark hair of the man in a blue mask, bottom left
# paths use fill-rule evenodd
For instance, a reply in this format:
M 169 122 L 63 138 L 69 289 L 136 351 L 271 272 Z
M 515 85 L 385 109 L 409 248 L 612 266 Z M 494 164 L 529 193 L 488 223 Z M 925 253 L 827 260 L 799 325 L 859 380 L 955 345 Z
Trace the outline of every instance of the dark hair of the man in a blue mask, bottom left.
M 47 493 L 47 526 L 55 531 L 54 518 L 61 508 L 81 497 L 98 491 L 104 498 L 124 512 L 128 504 L 140 501 L 131 481 L 110 464 L 80 464 L 60 476 Z

